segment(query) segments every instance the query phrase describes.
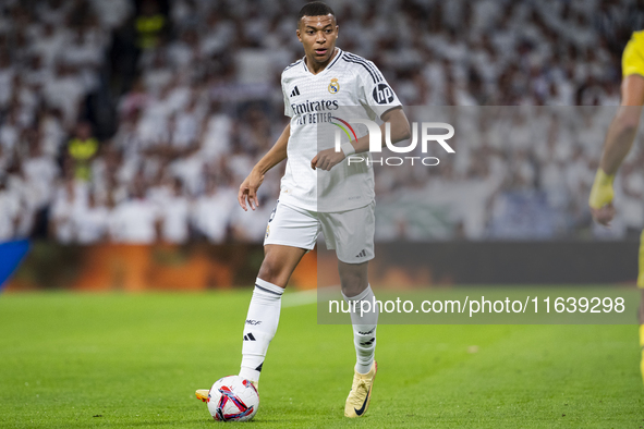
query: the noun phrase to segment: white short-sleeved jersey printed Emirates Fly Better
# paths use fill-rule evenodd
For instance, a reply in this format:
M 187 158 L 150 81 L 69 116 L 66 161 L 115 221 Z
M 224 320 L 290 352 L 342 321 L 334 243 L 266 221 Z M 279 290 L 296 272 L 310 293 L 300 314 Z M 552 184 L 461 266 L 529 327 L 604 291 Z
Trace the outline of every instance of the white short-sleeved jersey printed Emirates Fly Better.
M 333 212 L 364 207 L 374 200 L 374 171 L 368 152 L 345 158 L 331 171 L 313 170 L 311 161 L 323 149 L 367 134 L 352 119 L 379 121 L 401 106 L 373 62 L 337 48 L 325 70 L 312 74 L 304 58 L 282 72 L 284 114 L 291 118 L 285 174 L 279 200 L 306 210 Z

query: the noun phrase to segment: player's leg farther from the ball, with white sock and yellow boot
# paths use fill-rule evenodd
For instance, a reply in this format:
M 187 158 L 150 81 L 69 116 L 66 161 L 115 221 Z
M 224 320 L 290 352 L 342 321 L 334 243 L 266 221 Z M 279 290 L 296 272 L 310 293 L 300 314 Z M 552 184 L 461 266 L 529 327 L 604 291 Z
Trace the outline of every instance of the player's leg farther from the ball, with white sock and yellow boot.
M 378 366 L 374 360 L 376 352 L 376 328 L 378 323 L 378 308 L 374 305 L 375 297 L 367 282 L 367 263 L 345 263 L 338 261 L 342 295 L 357 311 L 351 311 L 353 326 L 353 344 L 355 346 L 356 364 L 351 392 L 344 405 L 347 417 L 364 415 L 372 399 L 372 388 Z M 369 303 L 369 311 L 362 312 L 360 302 Z M 366 309 L 366 305 L 364 307 Z

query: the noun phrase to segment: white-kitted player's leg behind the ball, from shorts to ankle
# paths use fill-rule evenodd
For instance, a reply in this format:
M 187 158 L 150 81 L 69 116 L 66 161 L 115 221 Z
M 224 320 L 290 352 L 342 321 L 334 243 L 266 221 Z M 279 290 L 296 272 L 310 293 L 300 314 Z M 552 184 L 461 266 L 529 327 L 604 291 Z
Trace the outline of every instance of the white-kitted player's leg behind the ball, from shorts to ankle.
M 306 253 L 303 248 L 268 244 L 255 281 L 255 290 L 244 324 L 240 376 L 257 384 L 268 344 L 279 323 L 284 287 Z

